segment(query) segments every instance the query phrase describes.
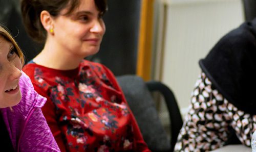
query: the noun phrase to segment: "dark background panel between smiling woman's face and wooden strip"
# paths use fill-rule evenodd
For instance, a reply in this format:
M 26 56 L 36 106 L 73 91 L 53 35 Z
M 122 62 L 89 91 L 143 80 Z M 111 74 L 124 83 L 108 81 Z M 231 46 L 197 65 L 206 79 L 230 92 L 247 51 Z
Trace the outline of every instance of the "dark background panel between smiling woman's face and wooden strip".
M 99 53 L 88 59 L 103 63 L 115 75 L 136 74 L 141 2 L 109 0 L 108 5 Z

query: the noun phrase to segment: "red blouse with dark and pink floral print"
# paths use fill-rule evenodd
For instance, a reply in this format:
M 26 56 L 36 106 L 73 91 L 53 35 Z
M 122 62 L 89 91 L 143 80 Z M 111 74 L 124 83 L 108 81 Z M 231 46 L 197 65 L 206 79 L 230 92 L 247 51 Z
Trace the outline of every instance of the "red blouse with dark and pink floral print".
M 84 60 L 74 70 L 27 64 L 61 151 L 150 151 L 113 73 Z

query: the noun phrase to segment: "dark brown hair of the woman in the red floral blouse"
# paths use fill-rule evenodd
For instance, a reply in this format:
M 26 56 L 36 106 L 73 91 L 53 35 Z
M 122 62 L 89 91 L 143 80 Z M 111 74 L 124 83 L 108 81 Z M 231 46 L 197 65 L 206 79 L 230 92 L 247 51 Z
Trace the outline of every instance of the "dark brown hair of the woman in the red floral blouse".
M 66 7 L 70 15 L 82 0 L 22 0 L 21 10 L 26 31 L 37 42 L 45 42 L 47 32 L 41 24 L 41 11 L 48 11 L 53 17 L 57 17 L 59 12 Z M 95 5 L 101 13 L 107 10 L 106 0 L 95 0 Z

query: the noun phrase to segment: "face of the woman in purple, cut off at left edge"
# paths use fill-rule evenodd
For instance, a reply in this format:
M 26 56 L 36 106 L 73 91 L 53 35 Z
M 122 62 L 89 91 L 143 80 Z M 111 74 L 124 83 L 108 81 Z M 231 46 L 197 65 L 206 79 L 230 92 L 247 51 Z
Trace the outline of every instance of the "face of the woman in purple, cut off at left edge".
M 18 85 L 21 69 L 13 44 L 0 36 L 0 108 L 15 106 L 22 98 Z

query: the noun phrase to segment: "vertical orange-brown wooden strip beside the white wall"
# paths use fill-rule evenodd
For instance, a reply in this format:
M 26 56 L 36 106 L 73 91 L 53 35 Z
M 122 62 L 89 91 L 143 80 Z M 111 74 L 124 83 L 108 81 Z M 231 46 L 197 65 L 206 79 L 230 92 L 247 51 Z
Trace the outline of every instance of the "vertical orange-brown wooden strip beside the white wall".
M 144 81 L 151 79 L 154 0 L 141 1 L 137 75 Z

